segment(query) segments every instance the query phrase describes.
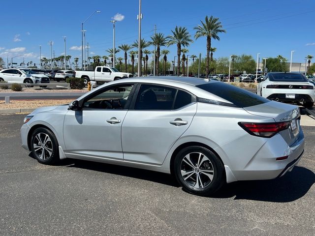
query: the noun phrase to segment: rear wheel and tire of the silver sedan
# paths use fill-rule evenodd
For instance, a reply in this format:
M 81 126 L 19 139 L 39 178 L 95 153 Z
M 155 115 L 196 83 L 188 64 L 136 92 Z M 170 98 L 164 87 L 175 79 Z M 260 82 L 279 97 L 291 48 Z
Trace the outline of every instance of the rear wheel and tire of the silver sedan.
M 182 174 L 184 171 L 187 174 Z M 220 158 L 208 148 L 200 146 L 183 148 L 176 155 L 173 174 L 184 190 L 200 196 L 215 193 L 226 182 Z

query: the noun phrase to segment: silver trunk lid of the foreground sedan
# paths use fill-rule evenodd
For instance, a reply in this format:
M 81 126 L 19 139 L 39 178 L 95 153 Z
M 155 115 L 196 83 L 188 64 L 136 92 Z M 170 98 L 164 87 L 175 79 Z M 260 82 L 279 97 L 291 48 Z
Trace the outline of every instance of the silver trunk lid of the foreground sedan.
M 280 132 L 286 143 L 291 146 L 298 138 L 300 132 L 300 108 L 295 105 L 270 101 L 260 105 L 243 108 L 248 113 L 273 118 L 276 122 L 291 121 L 288 129 Z

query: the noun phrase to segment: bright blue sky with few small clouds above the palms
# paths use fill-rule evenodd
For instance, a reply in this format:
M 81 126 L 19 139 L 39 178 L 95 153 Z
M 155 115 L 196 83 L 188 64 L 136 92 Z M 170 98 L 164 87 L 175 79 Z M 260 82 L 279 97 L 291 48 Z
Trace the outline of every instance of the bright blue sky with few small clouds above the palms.
M 1 2 L 0 57 L 14 62 L 39 61 L 39 45 L 42 57 L 50 58 L 49 41 L 53 41 L 55 56 L 63 55 L 63 36 L 66 36 L 66 54 L 81 59 L 81 22 L 95 10 L 85 24 L 86 42 L 90 56 L 108 55 L 112 47 L 112 23 L 117 13 L 124 19 L 116 23 L 116 46 L 131 44 L 138 35 L 138 0 L 104 1 L 42 0 Z M 14 10 L 13 10 L 14 9 Z M 176 26 L 187 27 L 193 38 L 193 27 L 206 15 L 218 17 L 226 29 L 221 40 L 213 40 L 217 48 L 215 58 L 231 54 L 250 54 L 256 58 L 282 55 L 294 62 L 303 62 L 306 55 L 315 56 L 315 1 L 314 0 L 142 0 L 142 37 L 150 40 L 157 31 L 165 35 Z M 77 49 L 77 50 L 76 50 Z M 206 54 L 206 39 L 199 38 L 189 47 L 189 55 Z M 168 58 L 174 59 L 176 46 L 168 48 Z M 116 57 L 123 57 L 119 53 Z

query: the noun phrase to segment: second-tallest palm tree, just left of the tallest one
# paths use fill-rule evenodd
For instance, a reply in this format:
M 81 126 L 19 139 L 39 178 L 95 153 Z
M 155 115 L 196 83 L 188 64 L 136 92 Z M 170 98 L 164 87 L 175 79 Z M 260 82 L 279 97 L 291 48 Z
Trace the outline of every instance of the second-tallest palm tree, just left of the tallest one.
M 167 36 L 167 46 L 172 44 L 177 45 L 177 75 L 179 75 L 181 66 L 181 46 L 188 47 L 192 40 L 190 39 L 190 35 L 186 27 L 176 26 L 175 30 L 171 30 L 171 32 L 173 35 Z

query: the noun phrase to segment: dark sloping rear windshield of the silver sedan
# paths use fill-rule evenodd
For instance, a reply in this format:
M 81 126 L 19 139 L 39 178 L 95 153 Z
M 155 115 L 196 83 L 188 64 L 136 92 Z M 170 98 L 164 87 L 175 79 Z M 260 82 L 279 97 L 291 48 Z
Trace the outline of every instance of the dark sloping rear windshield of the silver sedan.
M 209 83 L 203 85 L 197 85 L 196 87 L 211 92 L 231 103 L 233 103 L 236 107 L 251 107 L 256 106 L 259 104 L 263 104 L 266 102 L 270 102 L 270 100 L 258 96 L 250 91 L 245 89 L 240 89 L 236 86 L 224 84 L 221 82 L 217 83 Z M 208 99 L 198 99 L 201 102 L 207 102 Z M 209 100 L 210 101 L 210 100 Z M 224 105 L 224 103 L 217 103 L 214 104 Z M 228 105 L 228 104 L 226 104 Z

